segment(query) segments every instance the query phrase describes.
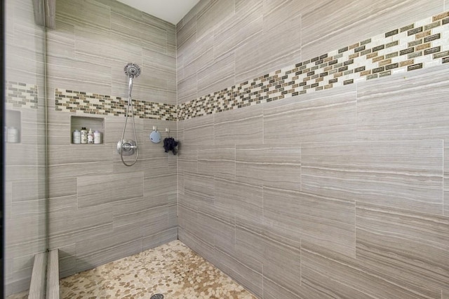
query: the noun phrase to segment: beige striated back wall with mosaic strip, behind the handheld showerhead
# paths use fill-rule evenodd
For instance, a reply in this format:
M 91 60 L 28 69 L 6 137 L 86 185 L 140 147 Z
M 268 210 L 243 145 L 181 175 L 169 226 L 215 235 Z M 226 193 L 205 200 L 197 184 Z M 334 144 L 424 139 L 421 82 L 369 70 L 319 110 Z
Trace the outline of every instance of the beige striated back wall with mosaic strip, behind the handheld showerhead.
M 47 36 L 49 246 L 67 277 L 177 238 L 176 157 L 149 141 L 154 125 L 163 138 L 165 128 L 177 134 L 175 26 L 118 1 L 58 0 Z M 133 167 L 116 153 L 128 62 L 142 68 L 133 81 Z M 102 119 L 103 143 L 71 144 L 72 116 Z M 130 118 L 125 138 L 132 127 Z

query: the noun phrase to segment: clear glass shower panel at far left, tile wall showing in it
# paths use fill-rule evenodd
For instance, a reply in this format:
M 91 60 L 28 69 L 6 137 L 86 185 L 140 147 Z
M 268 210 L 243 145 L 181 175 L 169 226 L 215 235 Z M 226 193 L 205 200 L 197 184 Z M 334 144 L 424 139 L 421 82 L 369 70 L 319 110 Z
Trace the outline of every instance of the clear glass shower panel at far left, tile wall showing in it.
M 34 0 L 5 0 L 5 297 L 26 291 L 47 249 L 45 29 Z

